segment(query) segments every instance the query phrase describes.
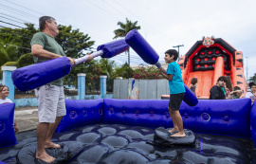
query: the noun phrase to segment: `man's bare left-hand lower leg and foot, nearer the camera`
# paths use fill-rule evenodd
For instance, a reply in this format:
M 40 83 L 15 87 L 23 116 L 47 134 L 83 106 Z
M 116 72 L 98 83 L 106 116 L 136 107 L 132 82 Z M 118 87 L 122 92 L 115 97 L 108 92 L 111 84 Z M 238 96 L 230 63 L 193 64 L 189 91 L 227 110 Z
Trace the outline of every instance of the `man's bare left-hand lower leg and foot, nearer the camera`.
M 55 160 L 54 157 L 46 154 L 45 149 L 45 141 L 46 141 L 46 133 L 48 131 L 49 123 L 39 122 L 37 127 L 37 153 L 36 158 L 46 161 L 47 163 L 51 163 Z

